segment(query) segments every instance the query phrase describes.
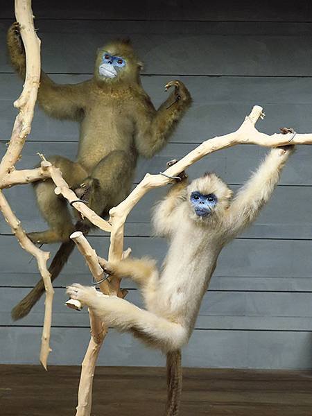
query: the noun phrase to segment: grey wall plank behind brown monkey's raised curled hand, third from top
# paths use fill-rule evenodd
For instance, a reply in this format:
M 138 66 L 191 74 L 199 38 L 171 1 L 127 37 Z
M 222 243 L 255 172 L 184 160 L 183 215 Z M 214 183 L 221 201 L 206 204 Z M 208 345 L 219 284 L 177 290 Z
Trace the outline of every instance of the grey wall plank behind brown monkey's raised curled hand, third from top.
M 52 75 L 55 82 L 79 83 L 89 76 Z M 246 78 L 194 76 L 142 76 L 146 92 L 158 107 L 167 97 L 164 85 L 179 78 L 189 88 L 193 104 L 171 137 L 174 143 L 201 143 L 211 137 L 235 131 L 252 106 L 261 105 L 267 116 L 257 128 L 272 134 L 279 128 L 311 131 L 312 78 Z M 21 92 L 22 82 L 15 74 L 0 74 L 0 140 L 10 137 L 17 110 L 12 103 Z M 30 140 L 78 141 L 78 126 L 56 121 L 39 108 L 35 111 Z

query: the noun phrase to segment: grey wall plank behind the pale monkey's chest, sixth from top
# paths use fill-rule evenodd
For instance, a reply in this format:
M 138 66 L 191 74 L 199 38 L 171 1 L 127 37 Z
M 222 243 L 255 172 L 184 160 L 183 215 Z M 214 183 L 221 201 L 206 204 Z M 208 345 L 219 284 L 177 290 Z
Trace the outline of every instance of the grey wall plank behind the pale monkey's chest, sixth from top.
M 107 255 L 108 237 L 89 237 L 89 242 L 99 255 Z M 148 237 L 126 237 L 124 246 L 132 248 L 134 257 L 149 255 L 158 261 L 164 258 L 167 247 L 162 239 L 149 239 Z M 57 246 L 47 245 L 45 249 L 51 250 L 52 258 Z M 31 274 L 31 277 L 34 277 L 37 274 L 35 260 L 29 262 L 31 257 L 19 248 L 15 237 L 1 236 L 0 252 L 6 253 L 1 259 L 0 286 L 22 286 L 24 276 Z M 236 239 L 221 252 L 214 279 L 231 278 L 233 286 L 235 286 L 236 278 L 311 280 L 311 252 L 312 241 Z M 58 285 L 61 282 L 62 286 L 72 283 L 73 277 L 75 280 L 83 277 L 85 283 L 90 279 L 85 261 L 77 250 L 64 267 L 62 277 L 58 279 Z M 251 284 L 252 279 L 247 282 L 249 290 L 252 290 Z

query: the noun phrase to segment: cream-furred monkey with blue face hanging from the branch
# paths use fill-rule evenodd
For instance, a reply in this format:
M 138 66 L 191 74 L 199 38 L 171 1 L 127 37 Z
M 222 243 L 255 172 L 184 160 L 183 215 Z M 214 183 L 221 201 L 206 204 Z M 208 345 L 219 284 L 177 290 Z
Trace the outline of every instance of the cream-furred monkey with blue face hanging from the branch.
M 293 146 L 272 148 L 234 198 L 231 189 L 215 173 L 206 173 L 191 183 L 183 174 L 153 214 L 156 235 L 170 241 L 161 273 L 153 259 L 101 259 L 101 266 L 109 275 L 137 283 L 146 309 L 116 296 L 103 295 L 95 288 L 80 284 L 67 287 L 67 294 L 92 309 L 107 327 L 130 331 L 167 355 L 167 416 L 178 412 L 180 350 L 191 336 L 218 255 L 257 218 L 291 153 Z

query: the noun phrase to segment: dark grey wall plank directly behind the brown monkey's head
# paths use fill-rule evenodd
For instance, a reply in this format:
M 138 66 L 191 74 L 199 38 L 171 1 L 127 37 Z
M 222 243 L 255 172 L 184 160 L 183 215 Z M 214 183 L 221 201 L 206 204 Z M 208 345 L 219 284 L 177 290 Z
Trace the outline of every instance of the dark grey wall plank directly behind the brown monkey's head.
M 10 22 L 0 21 L 3 50 Z M 145 73 L 311 76 L 311 24 L 42 20 L 36 27 L 48 72 L 92 73 L 98 46 L 129 36 Z M 0 71 L 12 71 L 4 54 Z

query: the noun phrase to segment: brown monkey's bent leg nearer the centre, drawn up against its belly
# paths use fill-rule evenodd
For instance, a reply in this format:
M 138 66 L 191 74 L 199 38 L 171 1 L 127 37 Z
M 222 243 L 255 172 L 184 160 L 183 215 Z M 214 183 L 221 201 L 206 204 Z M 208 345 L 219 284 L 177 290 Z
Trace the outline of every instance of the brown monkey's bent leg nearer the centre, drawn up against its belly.
M 135 168 L 135 160 L 123 150 L 114 150 L 93 169 L 85 184 L 88 207 L 101 215 L 128 196 Z M 77 189 L 80 193 L 83 189 Z

